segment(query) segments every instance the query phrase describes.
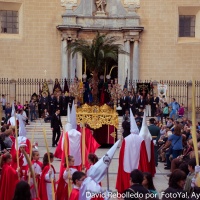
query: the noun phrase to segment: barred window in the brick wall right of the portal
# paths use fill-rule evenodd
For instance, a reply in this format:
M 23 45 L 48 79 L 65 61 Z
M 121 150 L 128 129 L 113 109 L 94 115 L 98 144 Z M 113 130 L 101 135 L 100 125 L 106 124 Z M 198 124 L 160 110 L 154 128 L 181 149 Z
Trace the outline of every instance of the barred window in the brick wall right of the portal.
M 179 16 L 179 37 L 195 37 L 195 15 Z

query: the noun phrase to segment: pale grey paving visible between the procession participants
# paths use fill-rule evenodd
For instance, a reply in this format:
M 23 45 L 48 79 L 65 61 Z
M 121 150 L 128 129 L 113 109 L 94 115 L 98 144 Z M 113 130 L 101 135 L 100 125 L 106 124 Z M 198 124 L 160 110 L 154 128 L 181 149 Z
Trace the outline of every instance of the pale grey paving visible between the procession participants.
M 66 118 L 62 117 L 62 122 L 63 125 L 66 123 Z M 44 137 L 43 137 L 43 128 L 46 129 L 46 133 L 47 133 L 47 141 L 48 141 L 48 145 L 49 145 L 49 149 L 51 152 L 55 152 L 55 148 L 51 147 L 51 129 L 50 129 L 50 124 L 49 123 L 44 123 L 42 120 L 37 120 L 36 122 L 32 122 L 30 125 L 27 126 L 27 131 L 28 131 L 28 135 L 27 137 L 30 139 L 32 133 L 34 132 L 35 129 L 35 133 L 34 133 L 34 141 L 38 142 L 39 144 L 39 151 L 40 151 L 40 160 L 42 161 L 42 157 L 43 155 L 46 153 L 46 147 L 45 147 L 45 143 L 44 143 Z M 105 148 L 99 148 L 96 152 L 97 156 L 99 158 L 101 158 L 106 152 L 108 151 L 108 149 Z M 115 156 L 112 160 L 112 163 L 110 165 L 109 168 L 109 186 L 110 186 L 110 190 L 112 191 L 116 191 L 115 189 L 115 184 L 116 184 L 116 176 L 117 176 L 117 170 L 118 170 L 118 158 L 119 158 L 119 148 L 117 149 Z M 60 160 L 59 159 L 55 159 L 53 165 L 55 166 L 56 172 L 57 172 L 57 177 L 58 177 L 58 173 L 59 173 L 59 168 L 60 168 Z M 169 173 L 169 170 L 164 170 L 164 164 L 163 163 L 159 163 L 158 167 L 156 168 L 156 175 L 154 177 L 154 184 L 156 189 L 161 192 L 162 190 L 167 188 L 167 183 L 168 183 L 168 177 L 166 176 Z M 106 189 L 107 187 L 107 181 L 106 181 L 106 177 L 104 178 L 104 180 L 102 181 L 102 186 L 104 189 Z

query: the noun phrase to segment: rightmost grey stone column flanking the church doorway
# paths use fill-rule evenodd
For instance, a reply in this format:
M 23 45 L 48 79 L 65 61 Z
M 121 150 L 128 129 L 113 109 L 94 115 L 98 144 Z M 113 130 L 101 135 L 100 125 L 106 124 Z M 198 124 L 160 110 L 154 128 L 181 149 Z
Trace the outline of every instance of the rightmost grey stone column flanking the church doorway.
M 139 41 L 133 44 L 133 80 L 139 79 Z

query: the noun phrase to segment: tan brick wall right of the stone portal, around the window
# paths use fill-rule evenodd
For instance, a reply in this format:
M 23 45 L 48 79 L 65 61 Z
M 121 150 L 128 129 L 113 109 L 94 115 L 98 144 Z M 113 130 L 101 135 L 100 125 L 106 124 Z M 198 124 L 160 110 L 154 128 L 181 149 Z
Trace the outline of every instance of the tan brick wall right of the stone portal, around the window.
M 144 26 L 140 42 L 141 79 L 199 79 L 200 40 L 178 38 L 178 8 L 200 6 L 197 0 L 141 0 L 138 14 Z M 188 10 L 188 9 L 186 9 Z M 184 13 L 181 13 L 184 14 Z

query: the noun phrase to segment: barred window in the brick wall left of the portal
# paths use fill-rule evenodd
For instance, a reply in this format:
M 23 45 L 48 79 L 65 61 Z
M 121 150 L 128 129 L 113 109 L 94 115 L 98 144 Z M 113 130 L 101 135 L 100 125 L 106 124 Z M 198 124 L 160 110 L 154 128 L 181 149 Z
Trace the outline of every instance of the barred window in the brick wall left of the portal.
M 18 11 L 0 10 L 0 28 L 1 33 L 18 34 Z

